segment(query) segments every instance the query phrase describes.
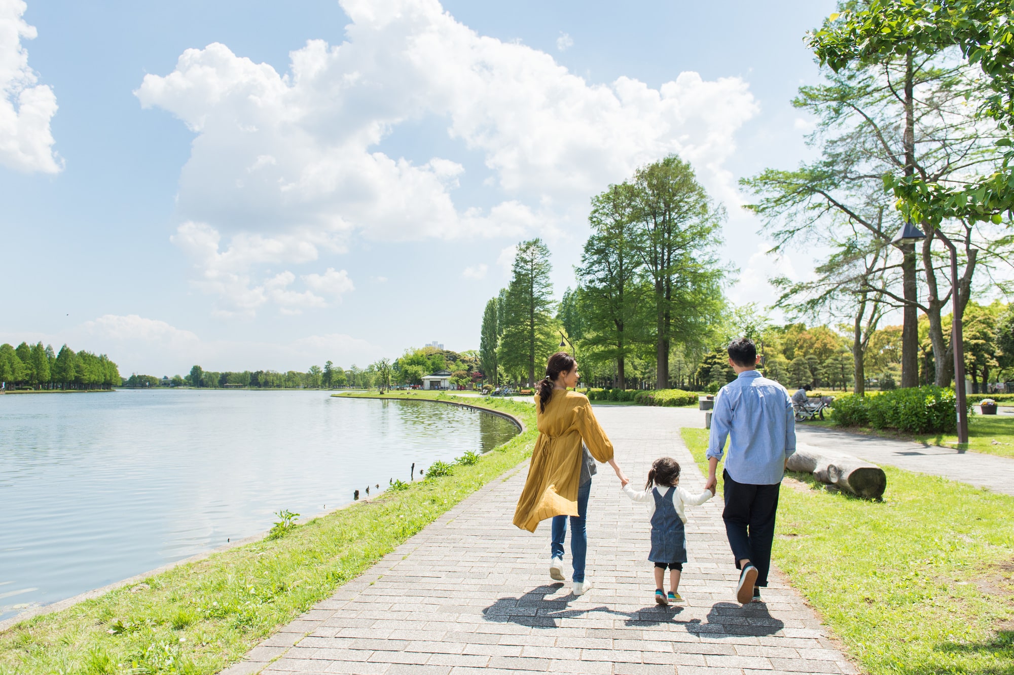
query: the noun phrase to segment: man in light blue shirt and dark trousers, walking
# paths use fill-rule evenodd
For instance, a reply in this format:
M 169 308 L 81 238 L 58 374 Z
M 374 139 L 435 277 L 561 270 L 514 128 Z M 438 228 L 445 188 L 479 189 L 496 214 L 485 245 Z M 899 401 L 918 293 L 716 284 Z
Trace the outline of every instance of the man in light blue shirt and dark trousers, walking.
M 722 520 L 740 570 L 736 599 L 746 604 L 760 602 L 760 587 L 768 585 L 778 489 L 785 463 L 796 451 L 796 422 L 789 392 L 756 371 L 760 359 L 753 342 L 738 338 L 728 352 L 736 379 L 715 397 L 705 488 L 714 490 L 718 482 L 715 469 L 731 437 L 722 472 Z

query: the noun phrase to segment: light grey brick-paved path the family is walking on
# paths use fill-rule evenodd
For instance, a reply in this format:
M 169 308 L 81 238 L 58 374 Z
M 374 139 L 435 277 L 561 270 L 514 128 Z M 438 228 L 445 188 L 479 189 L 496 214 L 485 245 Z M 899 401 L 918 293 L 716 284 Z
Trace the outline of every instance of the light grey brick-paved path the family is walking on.
M 671 455 L 683 466 L 683 485 L 704 488 L 679 439 L 691 420 L 685 411 L 596 413 L 635 483 L 653 459 Z M 700 413 L 693 420 L 700 424 Z M 535 534 L 510 523 L 526 470 L 473 495 L 225 672 L 856 672 L 779 575 L 766 605 L 735 603 L 737 574 L 718 501 L 687 508 L 690 561 L 680 591 L 689 606 L 657 608 L 644 506 L 620 493 L 607 465 L 594 479 L 588 510 L 595 588 L 574 597 L 569 582 L 549 578 L 549 523 Z

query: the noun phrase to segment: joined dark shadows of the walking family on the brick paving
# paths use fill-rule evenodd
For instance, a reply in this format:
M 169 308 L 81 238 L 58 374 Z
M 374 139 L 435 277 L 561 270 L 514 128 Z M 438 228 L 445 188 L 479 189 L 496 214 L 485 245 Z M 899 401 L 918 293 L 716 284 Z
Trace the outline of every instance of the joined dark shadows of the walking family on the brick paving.
M 623 617 L 625 625 L 631 627 L 661 625 L 663 623 L 681 624 L 687 632 L 702 638 L 709 634 L 715 636 L 771 635 L 785 626 L 782 621 L 769 613 L 768 607 L 764 603 L 743 607 L 731 602 L 718 602 L 712 605 L 706 621 L 698 618 L 679 619 L 679 614 L 685 608 L 678 605 L 668 607 L 653 605 L 633 612 L 617 611 L 605 605 L 569 609 L 569 604 L 577 596 L 566 595 L 552 600 L 546 598 L 562 587 L 563 584 L 547 584 L 535 587 L 519 598 L 499 598 L 492 605 L 483 609 L 483 618 L 487 621 L 516 623 L 533 628 L 556 628 L 560 625 L 559 620 L 562 618 L 574 618 L 596 612 Z

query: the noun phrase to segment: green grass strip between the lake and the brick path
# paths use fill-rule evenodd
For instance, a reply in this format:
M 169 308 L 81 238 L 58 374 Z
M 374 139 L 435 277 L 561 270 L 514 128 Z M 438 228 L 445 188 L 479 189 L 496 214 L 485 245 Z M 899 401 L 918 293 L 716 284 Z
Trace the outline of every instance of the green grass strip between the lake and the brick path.
M 355 394 L 352 394 L 355 395 Z M 409 397 L 391 395 L 391 398 Z M 454 400 L 414 392 L 412 398 Z M 387 491 L 264 539 L 182 565 L 0 633 L 0 673 L 214 673 L 531 452 L 530 404 L 461 398 L 528 431 L 453 474 Z M 133 591 L 133 592 L 132 592 Z

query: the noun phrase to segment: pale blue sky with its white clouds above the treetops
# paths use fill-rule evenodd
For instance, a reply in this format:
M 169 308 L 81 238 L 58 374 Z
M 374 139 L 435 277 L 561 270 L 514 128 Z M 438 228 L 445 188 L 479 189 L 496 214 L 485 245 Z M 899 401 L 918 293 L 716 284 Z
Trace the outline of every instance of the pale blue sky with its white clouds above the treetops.
M 155 375 L 475 349 L 510 246 L 562 293 L 589 198 L 670 151 L 728 208 L 730 297 L 771 301 L 810 260 L 763 254 L 735 180 L 807 156 L 832 10 L 0 0 L 0 340 Z

